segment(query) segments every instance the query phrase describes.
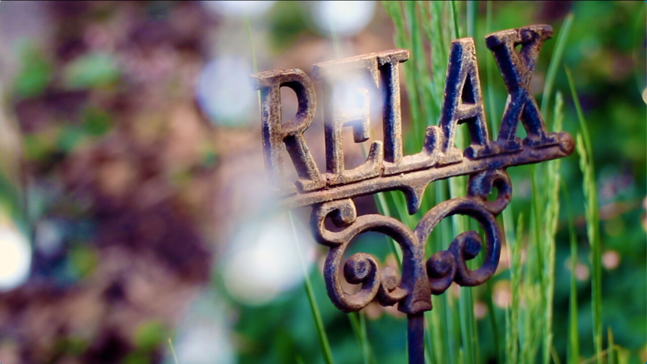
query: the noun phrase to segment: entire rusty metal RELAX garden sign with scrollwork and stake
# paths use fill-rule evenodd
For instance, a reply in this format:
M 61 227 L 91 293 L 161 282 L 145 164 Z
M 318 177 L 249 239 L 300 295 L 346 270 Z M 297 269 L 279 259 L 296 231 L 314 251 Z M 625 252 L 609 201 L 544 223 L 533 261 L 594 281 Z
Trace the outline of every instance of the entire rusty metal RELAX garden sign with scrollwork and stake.
M 452 282 L 477 286 L 490 279 L 499 263 L 503 234 L 496 216 L 512 198 L 512 185 L 506 169 L 565 157 L 573 152 L 573 137 L 546 130 L 542 115 L 529 87 L 542 44 L 551 38 L 549 25 L 503 30 L 485 38 L 508 91 L 508 100 L 496 141 L 488 135 L 483 95 L 479 81 L 473 38 L 452 41 L 439 125 L 429 126 L 422 150 L 413 155 L 402 152 L 402 115 L 398 65 L 409 51 L 396 49 L 316 63 L 313 74 L 323 83 L 326 170 L 321 172 L 303 137 L 313 122 L 316 95 L 313 82 L 300 69 L 267 71 L 252 76 L 261 91 L 263 148 L 265 165 L 280 191 L 285 209 L 311 205 L 311 225 L 316 240 L 330 248 L 323 275 L 333 304 L 344 312 L 364 308 L 377 301 L 383 306 L 398 304 L 408 315 L 409 362 L 424 363 L 423 313 L 432 310 L 431 295 L 439 295 Z M 516 47 L 520 46 L 519 51 Z M 353 128 L 355 142 L 369 139 L 367 89 L 359 89 L 362 108 L 348 112 L 330 96 L 334 82 L 349 74 L 362 74 L 383 97 L 383 141 L 373 141 L 366 162 L 345 168 L 342 130 Z M 281 120 L 281 87 L 296 93 L 298 109 L 294 119 Z M 363 95 L 363 98 L 362 98 Z M 517 138 L 522 122 L 527 137 Z M 457 126 L 467 124 L 471 144 L 456 148 Z M 284 149 L 285 148 L 285 149 Z M 287 150 L 298 179 L 286 181 L 283 153 Z M 406 195 L 408 212 L 415 213 L 425 188 L 439 179 L 468 175 L 466 197 L 443 201 L 428 210 L 413 231 L 395 218 L 380 214 L 357 216 L 352 198 L 386 190 Z M 498 197 L 488 201 L 490 190 Z M 445 217 L 461 214 L 474 218 L 485 235 L 485 260 L 478 269 L 466 261 L 483 246 L 476 231 L 467 231 L 448 242 L 445 251 L 425 258 L 425 247 L 433 228 Z M 337 229 L 325 226 L 330 217 Z M 390 236 L 402 248 L 402 271 L 378 266 L 377 259 L 355 253 L 344 262 L 344 253 L 358 234 L 377 231 Z M 342 280 L 360 284 L 356 293 L 342 289 Z

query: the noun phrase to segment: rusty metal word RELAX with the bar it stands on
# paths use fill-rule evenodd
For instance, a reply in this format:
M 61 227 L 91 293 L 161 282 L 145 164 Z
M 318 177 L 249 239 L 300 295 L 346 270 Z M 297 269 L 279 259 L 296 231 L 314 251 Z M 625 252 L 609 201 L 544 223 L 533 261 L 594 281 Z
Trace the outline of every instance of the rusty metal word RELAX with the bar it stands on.
M 254 85 L 261 91 L 265 165 L 272 181 L 284 192 L 283 205 L 292 208 L 380 190 L 403 190 L 413 213 L 430 181 L 476 174 L 491 169 L 493 163 L 506 168 L 569 155 L 572 137 L 546 130 L 529 87 L 542 44 L 552 35 L 548 25 L 531 25 L 485 38 L 509 94 L 496 141 L 488 135 L 474 39 L 452 41 L 441 119 L 439 125 L 426 129 L 422 150 L 414 155 L 402 152 L 398 65 L 408 60 L 408 51 L 396 49 L 316 63 L 314 78 L 322 81 L 325 95 L 331 95 L 333 85 L 347 80 L 349 74 L 363 74 L 384 97 L 384 141 L 373 141 L 366 162 L 350 170 L 344 166 L 342 128 L 353 128 L 355 142 L 369 139 L 368 91 L 358 89 L 366 97 L 362 108 L 353 113 L 334 104 L 333 98 L 324 98 L 325 174 L 318 170 L 303 137 L 316 109 L 311 79 L 300 69 L 254 74 Z M 516 50 L 518 45 L 520 51 Z M 281 122 L 281 87 L 294 90 L 298 100 L 296 115 L 289 122 Z M 515 136 L 520 120 L 527 133 L 523 141 Z M 459 124 L 467 124 L 470 133 L 471 144 L 464 151 L 454 143 Z M 298 174 L 294 183 L 283 177 L 284 144 Z M 503 155 L 506 157 L 501 158 Z

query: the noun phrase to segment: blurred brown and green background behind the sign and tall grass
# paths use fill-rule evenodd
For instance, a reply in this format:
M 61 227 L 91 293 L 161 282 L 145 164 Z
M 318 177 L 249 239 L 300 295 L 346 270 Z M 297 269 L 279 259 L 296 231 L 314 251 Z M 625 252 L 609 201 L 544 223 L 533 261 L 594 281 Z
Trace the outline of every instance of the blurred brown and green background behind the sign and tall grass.
M 464 14 L 465 2 L 457 6 Z M 483 41 L 486 2 L 475 8 L 485 67 L 492 57 Z M 595 146 L 604 326 L 631 363 L 644 363 L 646 3 L 494 1 L 491 8 L 492 31 L 545 23 L 557 34 L 574 15 L 564 64 Z M 311 74 L 315 62 L 392 49 L 393 36 L 378 1 L 1 1 L 0 361 L 323 363 L 302 264 L 336 363 L 362 361 L 352 320 L 325 293 L 325 249 L 311 238 L 309 210 L 295 212 L 293 232 L 285 214 L 258 202 L 269 188 L 249 76 L 255 67 Z M 533 76 L 538 98 L 554 44 L 545 43 Z M 555 89 L 565 95 L 564 129 L 575 135 L 563 70 Z M 494 92 L 501 113 L 500 80 Z M 284 95 L 286 117 L 295 101 Z M 307 134 L 320 169 L 321 119 L 318 112 Z M 349 165 L 362 163 L 359 144 L 345 152 Z M 525 211 L 531 181 L 514 169 L 512 205 Z M 575 274 L 586 359 L 591 263 L 575 155 L 561 172 L 581 262 L 569 269 L 564 212 L 554 345 L 564 358 Z M 360 214 L 376 211 L 371 196 L 357 203 Z M 388 247 L 375 249 L 393 259 Z M 504 259 L 492 279 L 494 306 L 474 288 L 483 363 L 497 362 L 488 317 L 504 323 L 508 266 Z M 362 317 L 376 362 L 404 363 L 404 316 L 371 304 Z

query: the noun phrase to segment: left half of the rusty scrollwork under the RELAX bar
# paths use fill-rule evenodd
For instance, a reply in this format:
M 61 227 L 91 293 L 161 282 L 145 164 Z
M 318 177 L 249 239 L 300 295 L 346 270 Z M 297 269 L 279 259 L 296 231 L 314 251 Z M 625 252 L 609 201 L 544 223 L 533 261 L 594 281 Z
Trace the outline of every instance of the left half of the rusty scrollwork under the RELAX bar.
M 323 268 L 328 295 L 334 305 L 345 312 L 361 310 L 369 302 L 377 299 L 380 304 L 390 306 L 404 299 L 401 308 L 408 312 L 415 308 L 424 310 L 428 303 L 415 302 L 405 298 L 417 297 L 410 295 L 415 286 L 411 284 L 424 278 L 423 271 L 416 269 L 414 264 L 424 258 L 424 251 L 418 246 L 413 232 L 402 222 L 388 216 L 369 214 L 356 216 L 355 205 L 351 199 L 333 201 L 316 205 L 313 209 L 312 224 L 315 227 L 316 238 L 320 244 L 331 247 Z M 325 227 L 325 219 L 331 216 L 334 225 L 344 227 L 342 231 L 329 231 Z M 402 248 L 404 262 L 402 279 L 391 267 L 380 269 L 377 259 L 366 253 L 356 253 L 350 256 L 343 268 L 344 279 L 351 284 L 361 284 L 360 291 L 355 294 L 342 289 L 342 260 L 350 242 L 358 234 L 375 231 L 390 236 Z M 406 306 L 406 307 L 405 307 Z

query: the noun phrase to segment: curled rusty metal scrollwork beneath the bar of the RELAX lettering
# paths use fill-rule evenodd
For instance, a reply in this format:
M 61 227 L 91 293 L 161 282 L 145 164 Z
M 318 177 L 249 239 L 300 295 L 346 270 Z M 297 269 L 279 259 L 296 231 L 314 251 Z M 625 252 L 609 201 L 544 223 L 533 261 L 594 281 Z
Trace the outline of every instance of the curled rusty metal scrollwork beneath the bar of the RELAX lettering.
M 498 197 L 488 201 L 492 188 L 498 190 Z M 431 309 L 431 294 L 443 293 L 452 282 L 461 286 L 482 284 L 494 275 L 498 266 L 503 234 L 496 216 L 505 209 L 511 196 L 512 185 L 505 170 L 474 174 L 468 182 L 468 196 L 439 203 L 424 214 L 413 231 L 389 216 L 357 216 L 351 199 L 315 205 L 311 218 L 315 237 L 320 244 L 331 248 L 323 269 L 331 301 L 344 312 L 358 311 L 377 301 L 382 306 L 399 303 L 400 311 L 419 313 Z M 474 218 L 483 228 L 485 244 L 476 231 L 466 231 L 456 236 L 448 249 L 434 253 L 425 261 L 426 241 L 434 227 L 455 214 Z M 340 231 L 327 229 L 328 217 Z M 353 239 L 367 231 L 385 234 L 400 245 L 401 274 L 393 267 L 380 267 L 377 258 L 367 253 L 355 253 L 344 261 Z M 483 245 L 483 264 L 478 269 L 469 269 L 466 262 L 475 258 Z M 349 284 L 361 284 L 360 290 L 347 293 L 342 288 L 342 279 Z

